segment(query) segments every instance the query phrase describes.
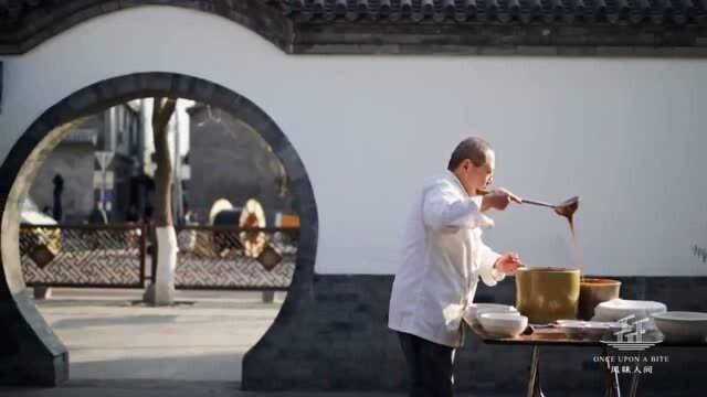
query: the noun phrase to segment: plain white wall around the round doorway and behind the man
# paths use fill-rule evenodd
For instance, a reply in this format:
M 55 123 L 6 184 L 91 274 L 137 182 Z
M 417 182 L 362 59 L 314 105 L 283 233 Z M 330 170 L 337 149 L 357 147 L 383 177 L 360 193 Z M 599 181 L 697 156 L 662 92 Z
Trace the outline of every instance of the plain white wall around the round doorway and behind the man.
M 706 275 L 707 62 L 293 56 L 225 19 L 139 8 L 6 57 L 0 158 L 48 107 L 107 77 L 165 71 L 222 84 L 285 131 L 314 184 L 316 269 L 390 273 L 422 179 L 478 131 L 497 182 L 529 198 L 580 195 L 591 272 Z M 516 207 L 486 234 L 530 265 L 571 262 L 567 224 Z

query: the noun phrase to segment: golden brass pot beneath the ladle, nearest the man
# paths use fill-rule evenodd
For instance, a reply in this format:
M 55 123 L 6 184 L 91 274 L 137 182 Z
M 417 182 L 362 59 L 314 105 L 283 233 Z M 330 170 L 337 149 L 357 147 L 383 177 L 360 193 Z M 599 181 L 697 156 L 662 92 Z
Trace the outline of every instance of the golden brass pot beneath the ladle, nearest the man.
M 520 268 L 516 273 L 516 308 L 535 324 L 577 319 L 578 269 Z

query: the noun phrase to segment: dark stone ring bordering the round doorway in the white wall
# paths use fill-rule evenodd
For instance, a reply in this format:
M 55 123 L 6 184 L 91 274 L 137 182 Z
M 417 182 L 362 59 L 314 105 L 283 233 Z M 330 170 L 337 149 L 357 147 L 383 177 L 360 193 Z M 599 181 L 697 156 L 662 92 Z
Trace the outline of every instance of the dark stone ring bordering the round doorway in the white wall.
M 45 138 L 56 128 L 107 107 L 151 96 L 173 96 L 219 107 L 258 131 L 272 147 L 287 171 L 288 187 L 300 217 L 295 272 L 274 324 L 285 321 L 282 318 L 292 315 L 303 301 L 312 300 L 318 239 L 316 202 L 302 160 L 273 119 L 247 98 L 197 77 L 150 72 L 108 78 L 44 111 L 21 135 L 0 167 L 0 385 L 57 386 L 68 378 L 68 352 L 36 310 L 20 269 L 19 208 L 10 197 L 15 182 L 22 183 L 18 179 L 23 165 L 43 147 L 51 150 Z M 271 331 L 272 326 L 263 339 Z

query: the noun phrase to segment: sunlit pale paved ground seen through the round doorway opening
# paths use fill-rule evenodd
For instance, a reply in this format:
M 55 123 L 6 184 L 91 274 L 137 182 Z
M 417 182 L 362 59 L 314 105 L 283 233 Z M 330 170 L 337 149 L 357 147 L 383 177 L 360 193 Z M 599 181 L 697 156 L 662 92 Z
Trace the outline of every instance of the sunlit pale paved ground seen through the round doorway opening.
M 141 304 L 135 290 L 54 290 L 40 312 L 68 347 L 71 379 L 240 382 L 241 361 L 284 293 L 178 291 L 179 304 Z

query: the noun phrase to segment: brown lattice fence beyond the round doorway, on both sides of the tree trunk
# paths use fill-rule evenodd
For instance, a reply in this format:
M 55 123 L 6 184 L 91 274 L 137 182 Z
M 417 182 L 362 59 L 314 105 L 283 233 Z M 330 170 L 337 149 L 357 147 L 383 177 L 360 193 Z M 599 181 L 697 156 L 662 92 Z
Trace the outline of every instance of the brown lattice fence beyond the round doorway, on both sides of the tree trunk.
M 145 288 L 156 273 L 143 225 L 20 228 L 28 286 Z M 285 290 L 295 271 L 297 229 L 177 228 L 176 288 Z

